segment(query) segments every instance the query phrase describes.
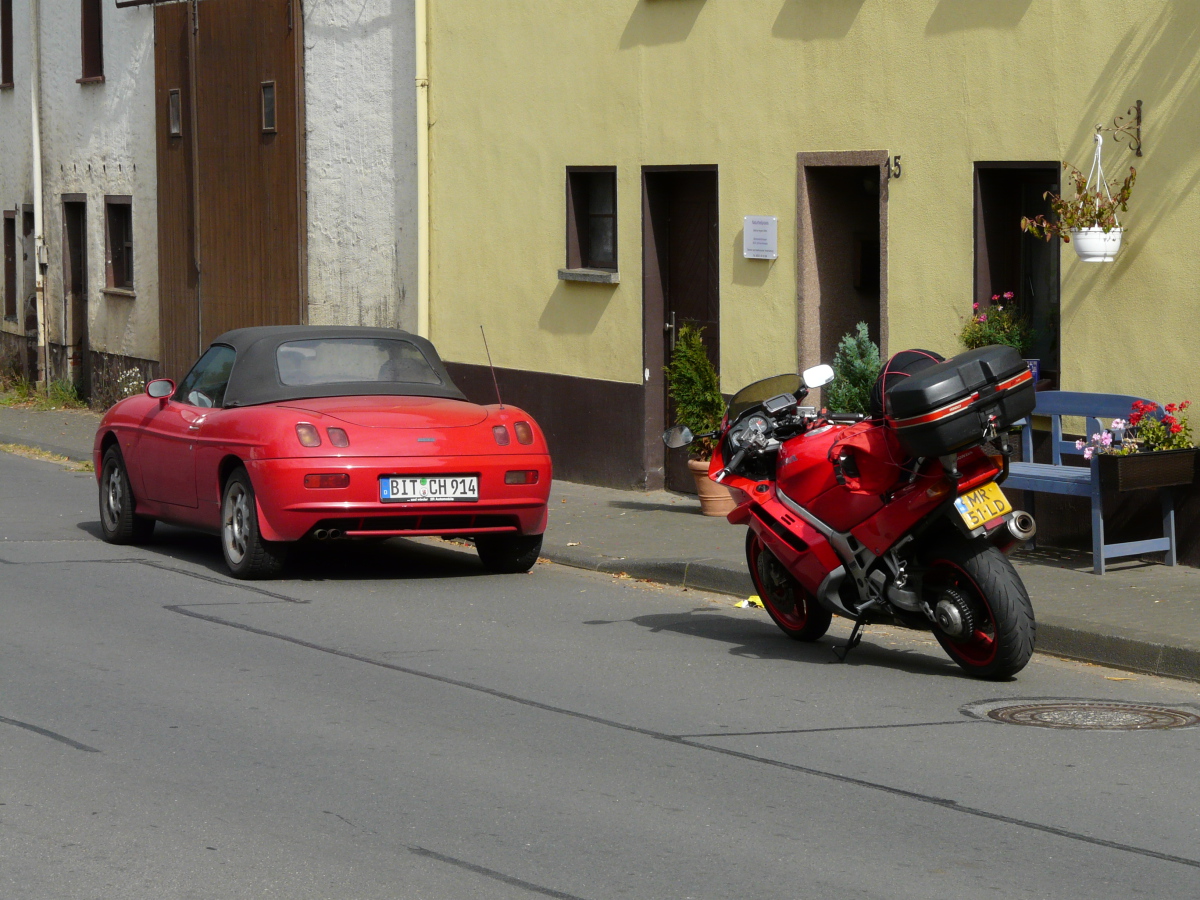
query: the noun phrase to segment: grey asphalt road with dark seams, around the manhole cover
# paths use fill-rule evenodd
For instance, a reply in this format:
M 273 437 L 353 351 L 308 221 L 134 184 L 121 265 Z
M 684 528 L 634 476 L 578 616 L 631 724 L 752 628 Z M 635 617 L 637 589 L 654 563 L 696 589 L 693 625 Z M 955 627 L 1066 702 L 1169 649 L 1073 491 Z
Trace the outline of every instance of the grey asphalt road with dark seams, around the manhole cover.
M 839 664 L 727 598 L 432 541 L 245 584 L 212 538 L 101 542 L 95 492 L 0 454 L 0 896 L 1198 894 L 1200 728 L 961 710 L 1200 685 L 980 683 L 886 629 Z

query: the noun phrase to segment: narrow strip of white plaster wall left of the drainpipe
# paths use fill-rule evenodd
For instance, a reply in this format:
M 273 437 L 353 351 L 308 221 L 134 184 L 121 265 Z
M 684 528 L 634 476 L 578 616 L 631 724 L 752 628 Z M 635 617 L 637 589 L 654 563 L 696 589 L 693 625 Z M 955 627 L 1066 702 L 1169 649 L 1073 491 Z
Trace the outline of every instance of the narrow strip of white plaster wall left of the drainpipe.
M 12 11 L 12 79 L 13 86 L 0 90 L 0 209 L 17 210 L 17 296 L 20 301 L 34 293 L 26 283 L 25 266 L 22 264 L 22 209 L 34 202 L 34 154 L 30 122 L 29 55 L 30 19 L 24 2 L 14 2 Z M 0 233 L 2 234 L 2 233 Z M 0 236 L 2 240 L 2 236 Z M 2 252 L 2 248 L 0 248 Z M 0 306 L 0 313 L 4 307 Z M 17 320 L 4 322 L 0 328 L 14 335 L 24 335 L 20 322 L 22 302 L 17 304 Z

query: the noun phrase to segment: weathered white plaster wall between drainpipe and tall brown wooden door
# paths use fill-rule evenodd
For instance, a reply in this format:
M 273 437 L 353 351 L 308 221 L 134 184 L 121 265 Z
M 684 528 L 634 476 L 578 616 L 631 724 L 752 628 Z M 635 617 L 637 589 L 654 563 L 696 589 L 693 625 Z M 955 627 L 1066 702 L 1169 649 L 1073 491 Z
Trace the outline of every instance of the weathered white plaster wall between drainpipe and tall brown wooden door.
M 26 0 L 18 2 L 28 6 Z M 79 29 L 78 4 L 42 0 L 42 173 L 50 342 L 62 340 L 62 194 L 83 193 L 88 197 L 89 344 L 94 350 L 156 360 L 154 7 L 118 10 L 103 4 L 102 84 L 76 80 L 82 71 Z M 133 299 L 103 293 L 106 194 L 133 198 Z

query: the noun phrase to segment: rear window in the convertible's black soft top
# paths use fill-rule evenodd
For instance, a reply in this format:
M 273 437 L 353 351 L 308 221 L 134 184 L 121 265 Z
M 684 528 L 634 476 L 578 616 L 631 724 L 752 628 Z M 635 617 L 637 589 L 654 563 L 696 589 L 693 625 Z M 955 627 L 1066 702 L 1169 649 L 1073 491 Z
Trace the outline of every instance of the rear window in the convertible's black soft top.
M 442 384 L 420 348 L 408 341 L 322 337 L 288 341 L 275 354 L 280 383 Z

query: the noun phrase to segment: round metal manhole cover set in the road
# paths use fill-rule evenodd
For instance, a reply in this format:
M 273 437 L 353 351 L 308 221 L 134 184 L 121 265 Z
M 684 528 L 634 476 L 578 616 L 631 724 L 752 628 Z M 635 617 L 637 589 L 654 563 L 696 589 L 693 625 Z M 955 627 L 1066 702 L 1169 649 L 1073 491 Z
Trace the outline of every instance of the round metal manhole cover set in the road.
M 1146 731 L 1200 725 L 1200 713 L 1195 708 L 1126 703 L 1118 700 L 985 700 L 965 706 L 961 712 L 973 719 L 990 719 L 1008 725 L 1076 731 Z

